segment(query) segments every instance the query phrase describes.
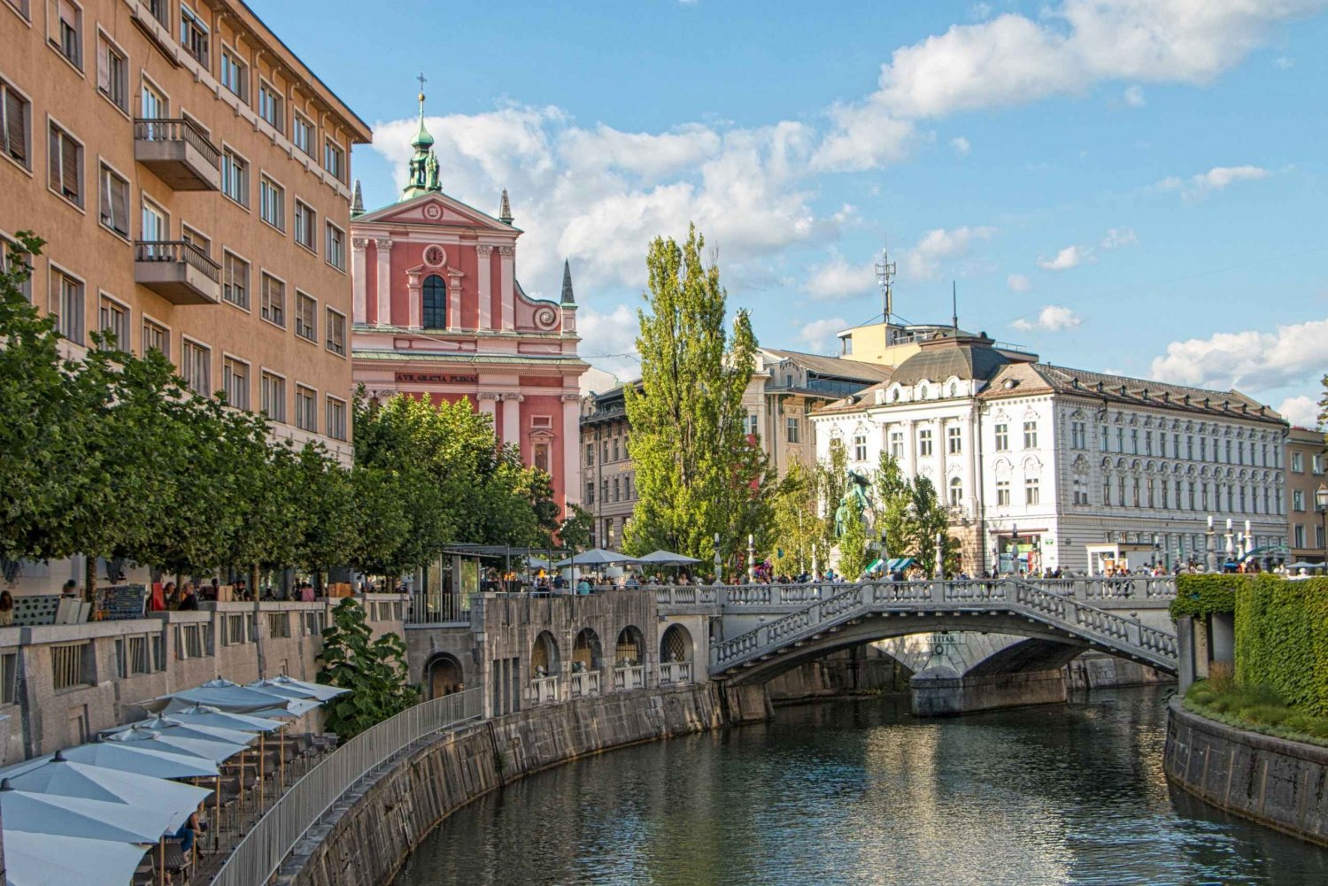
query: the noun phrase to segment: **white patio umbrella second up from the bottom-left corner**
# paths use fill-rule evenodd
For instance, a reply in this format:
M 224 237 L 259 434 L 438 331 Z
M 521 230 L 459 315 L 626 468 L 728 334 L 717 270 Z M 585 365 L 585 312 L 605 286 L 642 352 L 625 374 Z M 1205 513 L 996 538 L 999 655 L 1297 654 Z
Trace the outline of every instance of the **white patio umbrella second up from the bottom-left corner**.
M 39 794 L 0 782 L 0 818 L 5 834 L 25 830 L 118 843 L 155 843 L 166 833 L 171 817 L 165 809 Z

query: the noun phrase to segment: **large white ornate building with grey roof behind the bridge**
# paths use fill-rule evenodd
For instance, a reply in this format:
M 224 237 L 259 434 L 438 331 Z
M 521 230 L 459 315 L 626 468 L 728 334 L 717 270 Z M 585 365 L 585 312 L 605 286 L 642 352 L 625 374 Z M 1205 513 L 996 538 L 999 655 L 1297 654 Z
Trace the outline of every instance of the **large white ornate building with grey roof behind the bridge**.
M 888 452 L 954 513 L 969 573 L 1204 561 L 1286 539 L 1287 424 L 1216 392 L 1036 363 L 965 332 L 938 335 L 890 381 L 813 416 L 817 456 Z M 1242 534 L 1248 525 L 1248 539 Z

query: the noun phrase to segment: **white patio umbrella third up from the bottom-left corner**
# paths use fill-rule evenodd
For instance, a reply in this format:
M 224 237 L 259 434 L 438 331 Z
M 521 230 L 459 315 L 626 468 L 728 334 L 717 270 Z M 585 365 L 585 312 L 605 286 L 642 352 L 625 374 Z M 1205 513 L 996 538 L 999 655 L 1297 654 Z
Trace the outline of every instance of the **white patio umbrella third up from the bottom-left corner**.
M 182 785 L 178 781 L 70 762 L 58 751 L 52 760 L 8 781 L 11 786 L 28 793 L 162 809 L 170 814 L 167 832 L 178 830 L 210 793 L 206 788 Z

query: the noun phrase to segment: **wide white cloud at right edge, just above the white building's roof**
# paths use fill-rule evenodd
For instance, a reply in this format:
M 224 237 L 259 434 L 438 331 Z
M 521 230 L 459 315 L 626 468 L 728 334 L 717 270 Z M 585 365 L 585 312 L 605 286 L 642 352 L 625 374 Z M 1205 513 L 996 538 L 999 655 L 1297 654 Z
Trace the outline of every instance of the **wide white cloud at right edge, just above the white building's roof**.
M 1153 360 L 1153 377 L 1198 388 L 1266 391 L 1316 381 L 1324 368 L 1328 319 L 1275 332 L 1218 332 L 1173 341 Z M 1248 392 L 1247 391 L 1247 392 Z

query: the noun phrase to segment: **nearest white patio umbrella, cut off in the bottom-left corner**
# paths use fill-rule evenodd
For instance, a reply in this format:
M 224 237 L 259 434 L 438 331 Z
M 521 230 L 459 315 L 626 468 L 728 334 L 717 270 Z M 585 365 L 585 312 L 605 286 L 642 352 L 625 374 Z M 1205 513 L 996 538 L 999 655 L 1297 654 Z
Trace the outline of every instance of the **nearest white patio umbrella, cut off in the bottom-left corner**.
M 7 886 L 125 886 L 146 850 L 134 843 L 4 830 Z

